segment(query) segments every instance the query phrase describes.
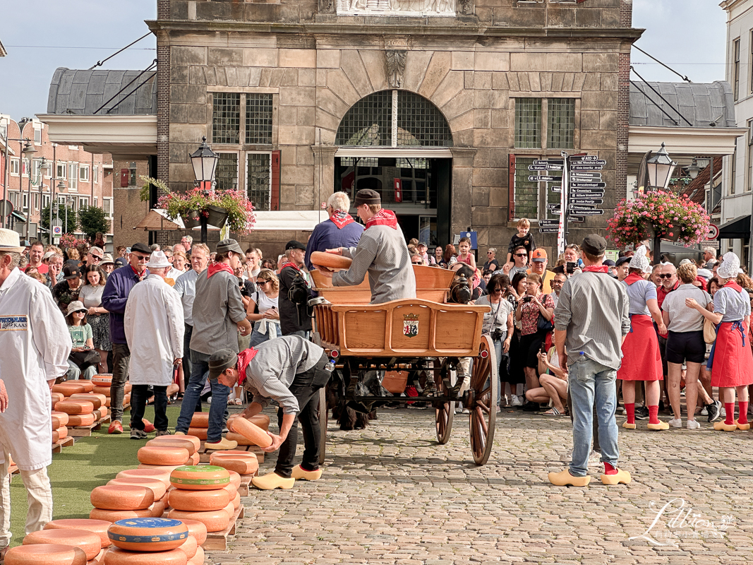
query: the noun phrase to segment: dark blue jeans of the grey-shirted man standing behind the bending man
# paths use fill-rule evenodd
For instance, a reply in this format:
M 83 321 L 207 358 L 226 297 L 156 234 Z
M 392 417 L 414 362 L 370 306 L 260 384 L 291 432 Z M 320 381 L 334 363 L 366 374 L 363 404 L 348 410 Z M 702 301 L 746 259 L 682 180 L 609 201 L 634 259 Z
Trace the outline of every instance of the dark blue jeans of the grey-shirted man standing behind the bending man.
M 176 432 L 188 432 L 191 426 L 191 417 L 199 402 L 201 390 L 209 377 L 209 355 L 191 350 L 191 380 L 188 381 L 186 392 L 183 395 L 181 415 L 175 424 Z M 209 381 L 212 387 L 212 404 L 209 405 L 209 429 L 206 431 L 206 441 L 217 443 L 222 439 L 222 429 L 227 420 L 227 395 L 230 387 L 224 386 L 218 380 Z

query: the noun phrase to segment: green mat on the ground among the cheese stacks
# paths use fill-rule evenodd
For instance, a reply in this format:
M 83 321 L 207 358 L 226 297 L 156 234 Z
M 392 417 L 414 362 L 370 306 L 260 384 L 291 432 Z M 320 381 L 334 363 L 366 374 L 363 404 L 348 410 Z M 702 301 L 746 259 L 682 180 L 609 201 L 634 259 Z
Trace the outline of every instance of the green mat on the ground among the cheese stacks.
M 167 407 L 170 429 L 174 429 L 180 414 L 180 405 Z M 154 408 L 147 407 L 145 417 L 154 422 Z M 54 454 L 47 468 L 52 483 L 53 518 L 89 518 L 92 505 L 89 496 L 94 487 L 107 483 L 124 469 L 136 469 L 139 461 L 136 452 L 147 440 L 132 440 L 128 423 L 130 415 L 123 417 L 125 432 L 108 435 L 107 426 L 93 432 L 90 438 L 76 438 L 72 447 L 63 447 Z M 150 434 L 149 438 L 154 438 Z M 20 475 L 11 482 L 11 546 L 23 542 L 26 524 L 26 489 Z

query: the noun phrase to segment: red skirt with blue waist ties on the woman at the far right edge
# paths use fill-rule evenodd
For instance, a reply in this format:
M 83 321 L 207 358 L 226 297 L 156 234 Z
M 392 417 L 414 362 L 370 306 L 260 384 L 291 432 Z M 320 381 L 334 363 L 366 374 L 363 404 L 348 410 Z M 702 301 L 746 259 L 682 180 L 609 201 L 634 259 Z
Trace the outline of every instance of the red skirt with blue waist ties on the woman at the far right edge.
M 736 322 L 722 322 L 716 332 L 711 386 L 728 388 L 753 384 L 753 354 L 748 338 L 742 343 L 742 332 L 733 328 Z M 748 333 L 748 328 L 742 326 Z

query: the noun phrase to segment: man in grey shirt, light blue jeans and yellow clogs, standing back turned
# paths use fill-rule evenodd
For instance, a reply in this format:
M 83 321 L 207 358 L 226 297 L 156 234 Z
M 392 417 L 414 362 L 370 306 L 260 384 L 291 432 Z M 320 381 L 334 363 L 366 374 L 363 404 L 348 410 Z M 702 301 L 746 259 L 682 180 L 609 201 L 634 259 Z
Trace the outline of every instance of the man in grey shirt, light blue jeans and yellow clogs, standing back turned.
M 593 435 L 593 408 L 599 420 L 602 483 L 630 482 L 630 473 L 617 469 L 617 388 L 622 342 L 630 332 L 630 302 L 623 283 L 602 265 L 606 240 L 586 236 L 581 245 L 583 272 L 569 278 L 559 292 L 554 310 L 554 340 L 559 366 L 569 373 L 572 397 L 572 461 L 570 469 L 549 473 L 559 486 L 585 487 L 591 480 L 588 456 Z M 565 353 L 567 351 L 567 353 Z

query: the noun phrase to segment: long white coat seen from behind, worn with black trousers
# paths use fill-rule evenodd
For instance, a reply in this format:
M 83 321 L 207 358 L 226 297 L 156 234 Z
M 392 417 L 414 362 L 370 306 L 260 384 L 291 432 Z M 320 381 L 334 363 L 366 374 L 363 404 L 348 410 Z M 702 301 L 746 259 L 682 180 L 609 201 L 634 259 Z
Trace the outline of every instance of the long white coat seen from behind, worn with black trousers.
M 123 329 L 131 351 L 131 384 L 172 383 L 172 361 L 183 357 L 183 305 L 161 276 L 149 275 L 131 289 Z

